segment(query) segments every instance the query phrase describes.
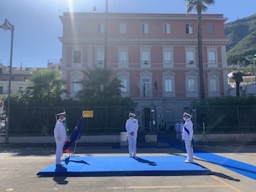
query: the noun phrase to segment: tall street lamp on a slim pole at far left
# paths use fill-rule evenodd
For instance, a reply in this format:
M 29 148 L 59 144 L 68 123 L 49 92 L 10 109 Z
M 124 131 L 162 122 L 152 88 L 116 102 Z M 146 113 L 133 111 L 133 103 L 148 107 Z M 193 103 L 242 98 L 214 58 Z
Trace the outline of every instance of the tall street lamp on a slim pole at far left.
M 12 81 L 12 62 L 13 62 L 13 44 L 14 44 L 14 32 L 15 26 L 10 24 L 10 22 L 5 19 L 2 26 L 0 26 L 4 31 L 11 30 L 11 47 L 10 47 L 10 59 L 9 59 L 9 87 L 8 87 L 8 101 L 7 101 L 7 114 L 5 117 L 5 143 L 9 143 L 9 102 L 10 102 L 10 91 L 11 91 L 11 81 Z

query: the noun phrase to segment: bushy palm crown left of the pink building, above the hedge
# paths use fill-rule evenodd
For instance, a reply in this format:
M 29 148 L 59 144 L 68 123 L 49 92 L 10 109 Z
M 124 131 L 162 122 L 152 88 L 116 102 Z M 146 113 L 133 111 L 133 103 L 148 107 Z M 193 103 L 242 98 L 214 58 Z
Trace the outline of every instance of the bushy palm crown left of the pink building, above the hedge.
M 54 70 L 33 70 L 32 78 L 27 79 L 32 85 L 27 87 L 29 96 L 34 101 L 45 101 L 50 103 L 52 100 L 60 100 L 63 93 L 65 81 L 61 79 L 61 73 Z

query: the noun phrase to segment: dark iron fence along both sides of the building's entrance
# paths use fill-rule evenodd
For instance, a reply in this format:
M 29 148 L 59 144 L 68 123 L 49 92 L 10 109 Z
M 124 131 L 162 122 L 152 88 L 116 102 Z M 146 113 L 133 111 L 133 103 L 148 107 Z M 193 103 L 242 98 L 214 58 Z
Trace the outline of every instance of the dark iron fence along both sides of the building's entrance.
M 12 107 L 10 113 L 9 136 L 52 136 L 55 127 L 55 113 L 63 108 L 21 108 Z M 93 118 L 84 118 L 82 134 L 119 134 L 125 131 L 131 107 L 70 107 L 65 108 L 67 126 L 71 131 L 79 122 L 83 111 L 93 111 Z M 157 109 L 156 116 L 157 117 Z M 255 132 L 255 106 L 196 106 L 193 114 L 195 132 L 241 133 Z M 145 119 L 146 117 L 144 117 Z M 148 122 L 151 119 L 148 116 Z M 158 122 L 160 125 L 160 122 Z M 141 123 L 143 131 L 150 131 L 148 124 Z

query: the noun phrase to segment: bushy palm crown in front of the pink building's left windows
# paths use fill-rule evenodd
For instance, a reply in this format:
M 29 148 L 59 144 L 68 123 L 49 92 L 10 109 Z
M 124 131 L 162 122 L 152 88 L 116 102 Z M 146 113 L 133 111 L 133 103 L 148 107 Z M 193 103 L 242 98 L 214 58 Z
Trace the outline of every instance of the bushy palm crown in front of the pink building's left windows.
M 112 75 L 111 69 L 96 67 L 84 71 L 84 79 L 73 82 L 82 85 L 83 90 L 79 90 L 78 97 L 80 100 L 87 98 L 107 99 L 120 97 L 123 87 L 121 80 L 114 78 L 110 80 Z

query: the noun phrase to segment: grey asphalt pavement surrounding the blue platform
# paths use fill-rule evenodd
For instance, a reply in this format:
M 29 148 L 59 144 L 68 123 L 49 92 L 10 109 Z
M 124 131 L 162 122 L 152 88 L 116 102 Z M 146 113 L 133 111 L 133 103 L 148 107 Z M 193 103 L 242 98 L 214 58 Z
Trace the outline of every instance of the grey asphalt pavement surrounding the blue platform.
M 195 143 L 195 148 L 238 160 L 255 167 L 256 143 Z M 118 143 L 78 143 L 79 156 L 125 156 Z M 38 177 L 37 173 L 55 163 L 54 144 L 1 144 L 0 191 L 75 192 L 254 192 L 255 180 L 195 156 L 195 162 L 211 170 L 201 176 L 140 177 Z M 65 154 L 67 155 L 67 154 Z M 140 155 L 183 155 L 166 143 L 138 143 Z M 256 169 L 252 172 L 256 172 Z M 256 173 L 255 173 L 256 174 Z

